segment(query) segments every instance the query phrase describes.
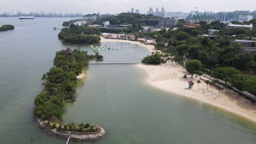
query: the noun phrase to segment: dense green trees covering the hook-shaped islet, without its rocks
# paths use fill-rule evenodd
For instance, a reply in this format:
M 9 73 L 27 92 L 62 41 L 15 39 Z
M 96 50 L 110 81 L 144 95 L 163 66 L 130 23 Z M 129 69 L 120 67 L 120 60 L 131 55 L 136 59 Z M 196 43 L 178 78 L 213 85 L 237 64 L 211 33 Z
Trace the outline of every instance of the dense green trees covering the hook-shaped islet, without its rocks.
M 59 122 L 63 111 L 63 101 L 74 99 L 77 85 L 76 75 L 82 73 L 82 68 L 88 64 L 89 59 L 95 57 L 76 49 L 72 51 L 72 54 L 72 56 L 65 55 L 65 50 L 56 52 L 53 60 L 54 67 L 43 74 L 44 91 L 36 96 L 34 108 L 34 114 L 43 120 Z M 100 55 L 97 54 L 97 56 Z M 95 127 L 92 127 L 92 131 L 95 131 Z

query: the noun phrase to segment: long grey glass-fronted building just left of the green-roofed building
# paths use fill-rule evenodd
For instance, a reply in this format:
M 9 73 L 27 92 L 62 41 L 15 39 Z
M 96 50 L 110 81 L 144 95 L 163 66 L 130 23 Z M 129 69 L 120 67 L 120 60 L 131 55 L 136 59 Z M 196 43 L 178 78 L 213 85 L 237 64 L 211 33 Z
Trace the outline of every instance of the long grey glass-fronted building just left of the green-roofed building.
M 160 28 L 160 27 L 168 28 L 176 25 L 177 22 L 178 20 L 174 20 L 174 19 L 143 19 L 138 21 L 138 24 L 145 23 L 148 26 L 153 26 L 156 28 Z

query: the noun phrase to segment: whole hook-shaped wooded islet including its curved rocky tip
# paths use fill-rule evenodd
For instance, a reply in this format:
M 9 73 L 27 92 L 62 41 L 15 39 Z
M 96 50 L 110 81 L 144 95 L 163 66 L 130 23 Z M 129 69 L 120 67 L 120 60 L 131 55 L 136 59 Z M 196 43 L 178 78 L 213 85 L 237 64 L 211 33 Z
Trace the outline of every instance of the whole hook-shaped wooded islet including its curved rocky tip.
M 43 92 L 35 98 L 34 115 L 39 126 L 50 134 L 59 137 L 71 137 L 79 140 L 96 140 L 105 134 L 105 130 L 96 124 L 63 123 L 61 115 L 63 105 L 77 97 L 75 89 L 77 77 L 83 67 L 93 58 L 100 55 L 88 55 L 86 51 L 74 49 L 56 52 L 53 65 L 49 72 L 43 74 Z

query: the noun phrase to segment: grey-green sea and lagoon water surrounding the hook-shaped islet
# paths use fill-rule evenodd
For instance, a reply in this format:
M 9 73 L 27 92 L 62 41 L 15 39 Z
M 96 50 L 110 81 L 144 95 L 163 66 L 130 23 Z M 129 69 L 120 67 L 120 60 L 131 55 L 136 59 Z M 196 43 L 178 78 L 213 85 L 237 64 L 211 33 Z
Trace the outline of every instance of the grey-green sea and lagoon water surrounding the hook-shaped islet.
M 53 66 L 55 52 L 70 47 L 93 53 L 88 45 L 62 45 L 57 39 L 59 30 L 53 27 L 66 20 L 0 18 L 0 25 L 16 25 L 13 31 L 0 32 L 1 144 L 66 143 L 33 123 L 41 75 Z M 100 52 L 103 62 L 139 62 L 148 53 L 144 48 Z M 188 104 L 189 98 L 148 85 L 146 77 L 135 65 L 89 65 L 77 88 L 79 97 L 66 105 L 63 121 L 98 124 L 107 134 L 98 141 L 69 144 L 256 144 L 255 124 L 197 101 Z

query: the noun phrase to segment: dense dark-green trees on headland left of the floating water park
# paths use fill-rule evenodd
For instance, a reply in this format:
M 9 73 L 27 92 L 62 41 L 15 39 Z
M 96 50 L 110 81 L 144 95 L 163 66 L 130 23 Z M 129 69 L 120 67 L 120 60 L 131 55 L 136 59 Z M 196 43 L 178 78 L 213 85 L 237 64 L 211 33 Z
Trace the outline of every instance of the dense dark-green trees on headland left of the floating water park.
M 58 34 L 59 39 L 63 39 L 62 43 L 73 43 L 73 44 L 96 44 L 100 43 L 99 36 L 93 36 L 83 33 L 82 26 L 70 24 L 69 27 L 63 28 Z

